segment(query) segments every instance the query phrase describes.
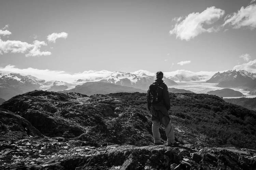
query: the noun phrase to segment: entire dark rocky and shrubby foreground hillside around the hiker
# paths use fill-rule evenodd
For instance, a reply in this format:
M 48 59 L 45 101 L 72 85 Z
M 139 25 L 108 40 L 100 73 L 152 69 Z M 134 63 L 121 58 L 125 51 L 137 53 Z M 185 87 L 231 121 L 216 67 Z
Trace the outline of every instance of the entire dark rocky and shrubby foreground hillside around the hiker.
M 153 146 L 145 95 L 35 90 L 15 96 L 0 105 L 0 170 L 256 168 L 254 111 L 216 96 L 170 93 L 181 145 Z M 166 143 L 162 126 L 160 135 Z

